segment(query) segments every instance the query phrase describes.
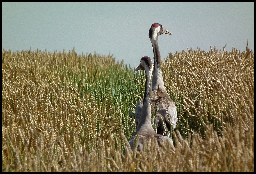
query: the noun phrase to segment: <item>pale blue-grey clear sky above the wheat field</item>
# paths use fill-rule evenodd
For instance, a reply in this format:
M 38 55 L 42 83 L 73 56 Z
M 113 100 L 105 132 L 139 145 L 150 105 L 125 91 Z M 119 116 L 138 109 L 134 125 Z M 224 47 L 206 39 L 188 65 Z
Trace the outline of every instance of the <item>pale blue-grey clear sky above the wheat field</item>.
M 153 61 L 148 31 L 159 23 L 162 60 L 187 48 L 255 51 L 255 1 L 247 2 L 3 2 L 1 50 L 72 50 L 113 54 L 137 67 Z

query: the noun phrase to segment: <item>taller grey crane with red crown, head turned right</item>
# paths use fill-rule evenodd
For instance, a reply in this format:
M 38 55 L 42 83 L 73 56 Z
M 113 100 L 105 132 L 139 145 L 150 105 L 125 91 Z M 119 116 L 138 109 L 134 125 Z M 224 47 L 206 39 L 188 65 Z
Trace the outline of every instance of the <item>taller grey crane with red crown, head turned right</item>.
M 162 34 L 172 35 L 172 33 L 163 28 L 159 23 L 151 25 L 148 36 L 151 41 L 154 52 L 154 72 L 152 77 L 152 95 L 151 95 L 151 111 L 153 112 L 157 107 L 157 116 L 154 124 L 157 124 L 157 134 L 165 135 L 165 132 L 169 132 L 175 129 L 177 124 L 177 110 L 175 103 L 170 98 L 164 86 L 164 80 L 161 69 L 161 55 L 158 47 L 158 36 Z M 135 122 L 138 125 L 138 121 L 141 117 L 141 110 L 143 106 L 143 99 L 136 104 L 135 109 Z M 170 118 L 170 119 L 169 119 Z

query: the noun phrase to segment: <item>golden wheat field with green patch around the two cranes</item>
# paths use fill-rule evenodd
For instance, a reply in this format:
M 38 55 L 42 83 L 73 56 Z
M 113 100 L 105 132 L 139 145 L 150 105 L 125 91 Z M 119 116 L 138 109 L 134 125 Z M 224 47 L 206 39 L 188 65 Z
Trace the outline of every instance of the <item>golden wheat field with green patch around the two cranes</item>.
M 146 55 L 145 55 L 146 56 Z M 138 57 L 138 64 L 140 57 Z M 145 74 L 113 55 L 2 51 L 2 172 L 255 172 L 254 53 L 200 49 L 162 63 L 178 124 L 128 141 Z M 153 118 L 152 116 L 152 124 Z

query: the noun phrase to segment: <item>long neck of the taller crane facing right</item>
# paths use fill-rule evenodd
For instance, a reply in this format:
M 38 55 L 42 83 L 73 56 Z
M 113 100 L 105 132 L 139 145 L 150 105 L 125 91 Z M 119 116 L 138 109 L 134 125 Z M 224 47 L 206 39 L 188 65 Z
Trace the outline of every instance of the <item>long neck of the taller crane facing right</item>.
M 158 36 L 156 38 L 152 38 L 151 43 L 154 51 L 154 72 L 153 72 L 153 78 L 152 78 L 152 90 L 161 88 L 162 90 L 165 90 L 164 87 L 164 80 L 163 80 L 163 74 L 162 74 L 162 69 L 161 69 L 161 55 L 157 43 Z

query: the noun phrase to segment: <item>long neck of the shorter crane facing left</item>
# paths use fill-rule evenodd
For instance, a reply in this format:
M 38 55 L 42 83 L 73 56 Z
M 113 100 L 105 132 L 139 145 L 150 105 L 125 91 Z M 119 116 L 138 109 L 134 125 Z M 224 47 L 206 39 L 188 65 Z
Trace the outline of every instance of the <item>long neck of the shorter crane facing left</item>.
M 142 106 L 138 126 L 134 135 L 136 135 L 138 132 L 140 132 L 140 134 L 155 132 L 151 124 L 151 93 L 152 93 L 151 75 L 152 75 L 152 70 L 150 70 L 150 72 L 146 72 L 143 106 Z

